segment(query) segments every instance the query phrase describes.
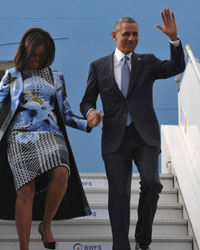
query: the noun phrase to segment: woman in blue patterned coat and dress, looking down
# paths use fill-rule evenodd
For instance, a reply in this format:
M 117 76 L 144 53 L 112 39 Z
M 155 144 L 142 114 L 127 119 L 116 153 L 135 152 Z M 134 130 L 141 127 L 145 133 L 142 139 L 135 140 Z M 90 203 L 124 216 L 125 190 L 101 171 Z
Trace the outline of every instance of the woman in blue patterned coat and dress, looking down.
M 63 75 L 49 67 L 54 56 L 49 33 L 29 29 L 0 83 L 0 218 L 15 219 L 20 250 L 29 250 L 32 219 L 55 249 L 52 219 L 91 213 L 65 126 L 90 128 L 72 113 Z

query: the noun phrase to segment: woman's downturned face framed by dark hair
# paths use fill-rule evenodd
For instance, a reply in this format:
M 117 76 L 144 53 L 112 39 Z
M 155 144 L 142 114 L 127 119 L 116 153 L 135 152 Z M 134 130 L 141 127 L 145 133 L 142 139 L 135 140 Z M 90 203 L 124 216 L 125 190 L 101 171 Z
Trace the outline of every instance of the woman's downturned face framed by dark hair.
M 29 69 L 40 69 L 45 60 L 46 53 L 44 44 L 40 44 L 36 49 L 30 54 L 28 58 L 28 68 Z

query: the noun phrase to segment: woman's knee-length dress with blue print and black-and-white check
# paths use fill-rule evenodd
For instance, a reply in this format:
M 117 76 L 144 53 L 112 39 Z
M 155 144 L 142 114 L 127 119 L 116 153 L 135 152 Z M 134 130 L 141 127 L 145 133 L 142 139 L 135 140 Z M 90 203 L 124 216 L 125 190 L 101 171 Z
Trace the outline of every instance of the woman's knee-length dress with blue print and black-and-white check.
M 8 161 L 16 190 L 56 166 L 69 169 L 50 69 L 23 71 L 22 78 L 20 104 L 7 133 Z

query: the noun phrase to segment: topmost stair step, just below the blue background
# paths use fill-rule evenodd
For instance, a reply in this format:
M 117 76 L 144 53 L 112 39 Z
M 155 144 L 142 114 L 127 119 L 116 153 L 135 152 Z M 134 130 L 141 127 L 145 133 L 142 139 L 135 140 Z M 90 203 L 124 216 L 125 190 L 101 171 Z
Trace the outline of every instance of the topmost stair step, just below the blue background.
M 161 183 L 166 188 L 174 187 L 173 175 L 161 174 Z M 108 188 L 108 181 L 105 174 L 81 174 L 81 181 L 84 188 Z M 132 175 L 132 188 L 139 188 L 140 177 L 138 174 Z

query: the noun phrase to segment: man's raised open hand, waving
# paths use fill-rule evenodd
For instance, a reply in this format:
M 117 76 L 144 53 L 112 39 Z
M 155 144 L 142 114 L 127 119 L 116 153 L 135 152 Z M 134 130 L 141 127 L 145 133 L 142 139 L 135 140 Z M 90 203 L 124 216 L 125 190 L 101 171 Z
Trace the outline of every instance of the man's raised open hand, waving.
M 170 13 L 169 8 L 164 8 L 163 11 L 161 11 L 160 13 L 163 22 L 163 27 L 158 24 L 156 24 L 155 26 L 160 29 L 164 34 L 166 34 L 171 41 L 178 40 L 174 13 Z

